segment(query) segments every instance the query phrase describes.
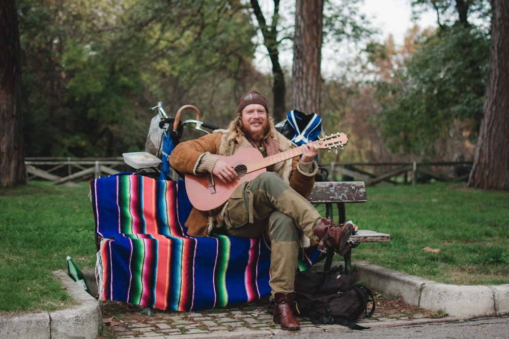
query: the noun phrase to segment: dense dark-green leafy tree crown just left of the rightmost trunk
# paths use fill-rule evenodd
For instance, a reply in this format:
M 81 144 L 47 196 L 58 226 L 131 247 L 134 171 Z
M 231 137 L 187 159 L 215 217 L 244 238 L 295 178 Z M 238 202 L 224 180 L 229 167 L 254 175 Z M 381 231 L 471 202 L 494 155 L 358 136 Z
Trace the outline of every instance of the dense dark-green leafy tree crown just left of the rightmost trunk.
M 475 28 L 454 25 L 425 39 L 398 82 L 379 83 L 382 109 L 376 123 L 387 146 L 421 155 L 433 154 L 434 141 L 450 138 L 458 121 L 473 121 L 474 137 L 483 113 L 489 40 Z

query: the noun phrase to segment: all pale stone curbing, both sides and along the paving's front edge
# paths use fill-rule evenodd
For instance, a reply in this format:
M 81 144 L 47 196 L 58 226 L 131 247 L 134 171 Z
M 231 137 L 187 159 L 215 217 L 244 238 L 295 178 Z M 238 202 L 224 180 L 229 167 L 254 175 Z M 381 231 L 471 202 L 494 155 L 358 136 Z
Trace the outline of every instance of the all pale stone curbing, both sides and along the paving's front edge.
M 342 262 L 333 264 L 341 265 Z M 323 263 L 314 265 L 320 270 Z M 384 294 L 401 296 L 405 302 L 430 311 L 442 310 L 442 319 L 415 319 L 409 321 L 382 321 L 365 324 L 371 328 L 407 326 L 436 322 L 455 322 L 475 317 L 503 316 L 509 314 L 509 284 L 494 286 L 458 286 L 437 283 L 381 266 L 356 262 L 356 279 Z M 322 268 L 323 270 L 323 268 Z M 93 271 L 83 271 L 92 294 L 97 291 Z M 64 271 L 54 271 L 68 293 L 78 304 L 65 310 L 48 313 L 0 316 L 0 338 L 33 339 L 95 339 L 102 326 L 99 302 L 83 291 Z M 363 324 L 364 325 L 364 324 Z M 345 332 L 343 326 L 325 325 L 304 327 L 299 333 Z M 257 331 L 219 331 L 207 334 L 172 335 L 171 338 L 206 337 L 249 338 L 265 335 L 290 335 L 293 332 L 279 329 Z

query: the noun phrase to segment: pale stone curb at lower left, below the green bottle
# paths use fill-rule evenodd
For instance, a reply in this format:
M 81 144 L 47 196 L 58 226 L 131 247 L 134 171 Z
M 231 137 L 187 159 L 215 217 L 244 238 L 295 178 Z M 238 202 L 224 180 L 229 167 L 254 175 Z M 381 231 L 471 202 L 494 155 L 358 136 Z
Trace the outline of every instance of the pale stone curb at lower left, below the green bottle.
M 0 316 L 2 339 L 95 339 L 102 326 L 97 300 L 79 287 L 64 271 L 54 271 L 69 295 L 77 302 L 65 310 Z

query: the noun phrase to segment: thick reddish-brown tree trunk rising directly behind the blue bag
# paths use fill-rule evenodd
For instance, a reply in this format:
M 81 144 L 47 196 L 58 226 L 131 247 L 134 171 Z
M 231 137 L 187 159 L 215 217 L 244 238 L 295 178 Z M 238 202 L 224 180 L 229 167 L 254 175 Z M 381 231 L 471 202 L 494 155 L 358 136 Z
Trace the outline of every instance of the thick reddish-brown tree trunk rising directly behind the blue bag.
M 292 109 L 320 109 L 323 0 L 297 0 L 293 42 Z

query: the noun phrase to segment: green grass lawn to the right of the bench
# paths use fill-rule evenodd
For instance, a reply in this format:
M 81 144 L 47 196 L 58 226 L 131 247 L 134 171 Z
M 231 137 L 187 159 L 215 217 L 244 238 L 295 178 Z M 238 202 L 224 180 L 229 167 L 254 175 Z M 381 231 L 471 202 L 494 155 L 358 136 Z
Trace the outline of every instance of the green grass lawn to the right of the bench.
M 431 183 L 366 194 L 366 203 L 346 206 L 347 220 L 389 233 L 390 242 L 361 243 L 353 260 L 445 284 L 509 283 L 509 192 Z

